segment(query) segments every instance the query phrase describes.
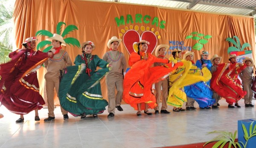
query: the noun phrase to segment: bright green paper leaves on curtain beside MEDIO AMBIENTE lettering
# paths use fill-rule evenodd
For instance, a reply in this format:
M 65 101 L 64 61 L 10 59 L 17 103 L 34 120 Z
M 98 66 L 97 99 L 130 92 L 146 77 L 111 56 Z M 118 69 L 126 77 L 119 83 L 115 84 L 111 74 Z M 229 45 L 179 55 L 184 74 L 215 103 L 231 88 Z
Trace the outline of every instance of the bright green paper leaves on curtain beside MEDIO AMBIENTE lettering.
M 204 47 L 204 45 L 209 42 L 207 39 L 210 39 L 212 37 L 210 35 L 204 36 L 204 34 L 200 34 L 198 32 L 192 32 L 191 34 L 192 35 L 186 36 L 186 39 L 194 39 L 198 41 L 192 47 L 192 49 L 195 50 L 201 50 Z

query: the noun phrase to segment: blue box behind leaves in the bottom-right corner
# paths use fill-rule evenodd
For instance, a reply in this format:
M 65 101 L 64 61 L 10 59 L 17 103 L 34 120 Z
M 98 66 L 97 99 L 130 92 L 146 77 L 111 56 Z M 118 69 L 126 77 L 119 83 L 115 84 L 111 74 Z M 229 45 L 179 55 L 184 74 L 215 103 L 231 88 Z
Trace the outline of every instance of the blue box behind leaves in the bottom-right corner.
M 242 123 L 246 127 L 247 133 L 249 133 L 250 124 L 253 123 L 253 127 L 256 125 L 256 119 L 244 119 L 244 120 L 238 120 L 238 141 L 241 141 L 245 145 L 245 139 L 244 139 L 244 130 L 242 127 Z M 250 138 L 247 142 L 246 148 L 256 148 L 256 136 Z

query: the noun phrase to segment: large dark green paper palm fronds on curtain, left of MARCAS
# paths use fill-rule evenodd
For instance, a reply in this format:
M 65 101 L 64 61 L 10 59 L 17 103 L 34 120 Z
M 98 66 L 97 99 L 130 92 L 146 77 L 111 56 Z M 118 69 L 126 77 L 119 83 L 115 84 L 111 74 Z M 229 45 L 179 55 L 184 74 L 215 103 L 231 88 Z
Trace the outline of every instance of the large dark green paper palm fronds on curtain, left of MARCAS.
M 57 27 L 56 27 L 56 34 L 59 34 L 63 37 L 64 39 L 64 36 L 66 36 L 67 34 L 69 34 L 71 31 L 74 31 L 74 30 L 78 30 L 78 28 L 75 26 L 75 25 L 68 25 L 64 31 L 62 32 L 61 34 L 61 26 L 62 25 L 66 25 L 65 22 L 58 22 L 57 24 Z M 53 34 L 50 32 L 50 31 L 47 31 L 47 30 L 40 30 L 40 31 L 37 31 L 35 33 L 35 36 L 48 36 L 48 37 L 52 37 Z M 73 38 L 73 37 L 68 37 L 68 38 L 65 38 L 64 41 L 66 42 L 66 44 L 68 45 L 73 45 L 74 47 L 77 46 L 80 48 L 80 42 L 76 39 L 76 38 Z M 38 43 L 37 45 L 37 50 L 40 50 L 42 47 L 46 46 L 46 45 L 51 45 L 51 41 L 41 41 Z M 50 49 L 52 48 L 52 46 L 49 46 L 47 48 L 45 48 L 43 50 L 43 52 L 47 52 L 49 51 Z

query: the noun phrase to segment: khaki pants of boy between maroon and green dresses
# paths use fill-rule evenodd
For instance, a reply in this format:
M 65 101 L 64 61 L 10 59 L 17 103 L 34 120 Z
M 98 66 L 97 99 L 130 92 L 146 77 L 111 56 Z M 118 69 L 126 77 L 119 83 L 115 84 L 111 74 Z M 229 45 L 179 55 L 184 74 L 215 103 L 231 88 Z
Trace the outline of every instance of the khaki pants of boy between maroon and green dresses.
M 45 79 L 45 85 L 48 103 L 48 116 L 54 117 L 54 88 L 58 96 L 59 79 Z M 62 107 L 61 112 L 62 114 L 67 114 L 67 111 L 65 111 Z

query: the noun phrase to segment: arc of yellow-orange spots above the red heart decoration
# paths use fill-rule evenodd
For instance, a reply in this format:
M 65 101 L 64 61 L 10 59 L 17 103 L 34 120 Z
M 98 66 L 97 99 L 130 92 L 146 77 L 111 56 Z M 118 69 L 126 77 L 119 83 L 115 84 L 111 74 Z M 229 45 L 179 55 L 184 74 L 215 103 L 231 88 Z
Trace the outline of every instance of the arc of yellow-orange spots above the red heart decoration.
M 138 30 L 141 30 L 141 31 L 151 31 L 151 32 L 153 32 L 156 36 L 157 36 L 157 39 L 161 39 L 161 36 L 160 36 L 160 34 L 159 34 L 159 32 L 158 31 L 156 31 L 156 32 L 154 32 L 155 31 L 155 29 L 154 28 L 151 28 L 150 29 L 150 27 L 145 27 L 145 26 L 138 26 L 138 25 L 135 25 L 135 26 L 133 26 L 133 25 L 130 25 L 129 27 L 128 26 L 125 26 L 125 28 L 124 29 L 121 29 L 121 32 L 122 33 L 119 33 L 119 36 L 123 36 L 123 34 L 125 34 L 125 32 L 126 31 L 128 31 L 128 30 L 135 30 L 135 31 L 138 31 Z

